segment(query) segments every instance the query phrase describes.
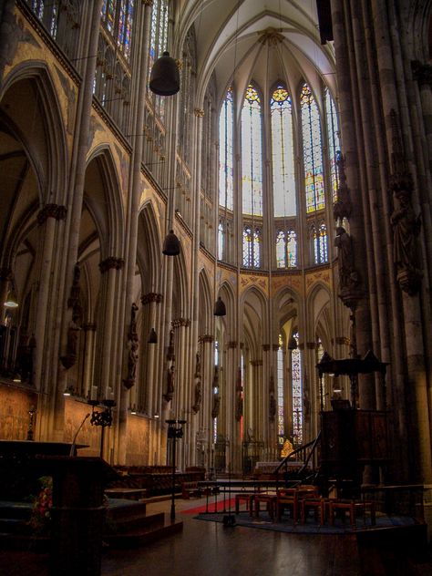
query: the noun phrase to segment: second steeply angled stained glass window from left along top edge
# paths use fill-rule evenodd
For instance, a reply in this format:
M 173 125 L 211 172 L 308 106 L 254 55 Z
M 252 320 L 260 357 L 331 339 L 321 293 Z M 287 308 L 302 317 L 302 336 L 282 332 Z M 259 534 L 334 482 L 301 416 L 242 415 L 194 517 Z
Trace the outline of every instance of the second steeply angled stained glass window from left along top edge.
M 123 56 L 130 57 L 130 42 L 134 16 L 134 0 L 104 0 L 101 19 L 114 36 Z

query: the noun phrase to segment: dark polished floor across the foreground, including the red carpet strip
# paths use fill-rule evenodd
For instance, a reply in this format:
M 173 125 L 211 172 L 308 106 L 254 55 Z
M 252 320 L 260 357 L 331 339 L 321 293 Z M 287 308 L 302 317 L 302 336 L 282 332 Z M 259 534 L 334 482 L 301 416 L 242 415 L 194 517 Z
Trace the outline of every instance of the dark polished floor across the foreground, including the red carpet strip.
M 184 521 L 180 533 L 143 549 L 104 550 L 102 576 L 432 576 L 430 558 L 414 561 L 401 546 L 376 550 L 369 544 L 362 550 L 355 533 L 273 532 L 183 513 L 203 503 L 176 500 Z M 170 501 L 149 504 L 148 510 L 169 514 Z M 46 576 L 46 557 L 0 552 L 0 574 Z

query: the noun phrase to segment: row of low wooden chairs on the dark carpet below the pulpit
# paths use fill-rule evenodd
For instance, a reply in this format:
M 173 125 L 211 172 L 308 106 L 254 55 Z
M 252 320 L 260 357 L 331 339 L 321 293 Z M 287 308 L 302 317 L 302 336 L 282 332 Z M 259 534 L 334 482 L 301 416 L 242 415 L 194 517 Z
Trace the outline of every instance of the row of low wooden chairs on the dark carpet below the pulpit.
M 363 516 L 365 524 L 366 511 L 369 511 L 371 524 L 375 525 L 374 502 L 355 499 L 324 499 L 320 496 L 315 486 L 302 485 L 297 488 L 279 489 L 277 492 L 255 492 L 236 494 L 235 511 L 239 513 L 240 503 L 246 503 L 246 509 L 251 516 L 259 517 L 260 508 L 265 504 L 272 520 L 281 522 L 283 513 L 287 510 L 293 522 L 299 520 L 306 522 L 308 514 L 314 511 L 316 521 L 323 525 L 328 520 L 334 525 L 334 517 L 337 513 L 349 513 L 351 526 L 355 529 L 355 520 L 359 515 Z

